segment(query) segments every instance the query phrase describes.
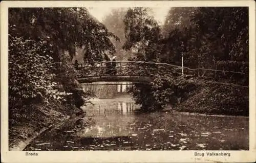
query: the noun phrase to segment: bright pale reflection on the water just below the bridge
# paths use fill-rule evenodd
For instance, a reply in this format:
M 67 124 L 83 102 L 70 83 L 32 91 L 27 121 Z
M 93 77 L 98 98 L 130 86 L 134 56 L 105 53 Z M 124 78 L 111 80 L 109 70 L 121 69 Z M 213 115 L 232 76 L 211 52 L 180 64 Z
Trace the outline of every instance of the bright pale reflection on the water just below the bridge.
M 93 112 L 96 124 L 91 126 L 89 132 L 83 132 L 83 136 L 105 137 L 105 136 L 125 136 L 133 132 L 129 127 L 129 123 L 134 120 L 133 116 L 125 116 L 131 114 L 136 105 L 131 100 L 115 99 L 115 100 L 95 100 L 94 106 L 87 106 L 87 109 Z

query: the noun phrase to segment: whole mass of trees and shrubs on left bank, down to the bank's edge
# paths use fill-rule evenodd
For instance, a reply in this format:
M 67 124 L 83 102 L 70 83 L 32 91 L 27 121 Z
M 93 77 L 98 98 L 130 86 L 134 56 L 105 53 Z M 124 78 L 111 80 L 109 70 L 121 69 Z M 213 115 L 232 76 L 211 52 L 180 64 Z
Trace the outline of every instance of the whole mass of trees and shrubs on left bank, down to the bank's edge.
M 9 8 L 8 27 L 12 144 L 49 126 L 58 112 L 70 115 L 89 102 L 93 95 L 79 87 L 72 64 L 75 50 L 86 47 L 85 58 L 93 61 L 104 51 L 114 53 L 110 38 L 117 37 L 86 8 Z

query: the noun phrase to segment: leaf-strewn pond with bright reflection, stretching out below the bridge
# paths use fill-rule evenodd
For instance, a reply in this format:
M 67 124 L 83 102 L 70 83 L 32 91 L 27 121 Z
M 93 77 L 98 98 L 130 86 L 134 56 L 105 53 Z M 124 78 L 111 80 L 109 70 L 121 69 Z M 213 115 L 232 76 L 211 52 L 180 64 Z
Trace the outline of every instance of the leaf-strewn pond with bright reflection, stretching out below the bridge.
M 25 150 L 249 150 L 246 117 L 139 112 L 130 96 L 92 102 L 83 107 L 89 117 L 43 133 Z

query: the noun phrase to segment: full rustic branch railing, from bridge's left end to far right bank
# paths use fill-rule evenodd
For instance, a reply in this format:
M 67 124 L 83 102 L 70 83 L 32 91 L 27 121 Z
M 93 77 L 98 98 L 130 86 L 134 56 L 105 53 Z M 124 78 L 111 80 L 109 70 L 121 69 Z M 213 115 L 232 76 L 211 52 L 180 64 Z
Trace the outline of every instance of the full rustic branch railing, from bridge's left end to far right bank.
M 112 64 L 115 66 L 111 66 Z M 237 76 L 237 78 L 246 77 L 246 73 L 243 72 L 232 72 L 218 69 L 207 69 L 207 68 L 188 68 L 181 67 L 168 63 L 156 63 L 156 62 L 143 62 L 143 61 L 112 61 L 112 62 L 93 62 L 93 63 L 82 63 L 74 64 L 78 72 L 78 79 L 89 78 L 89 77 L 100 77 L 105 79 L 104 76 L 120 78 L 120 76 L 130 76 L 137 80 L 138 77 L 152 78 L 154 76 L 161 76 L 171 74 L 172 76 L 181 76 L 182 69 L 184 76 L 204 76 L 211 79 L 217 79 L 220 77 L 224 80 L 229 80 L 231 77 Z M 116 76 L 116 77 L 115 77 Z M 135 78 L 136 77 L 136 78 Z M 124 78 L 122 78 L 123 80 Z M 126 78 L 125 78 L 126 79 Z M 118 80 L 118 79 L 116 79 Z M 144 79 L 143 79 L 144 80 Z M 143 81 L 142 80 L 142 81 Z M 86 82 L 86 80 L 84 80 Z

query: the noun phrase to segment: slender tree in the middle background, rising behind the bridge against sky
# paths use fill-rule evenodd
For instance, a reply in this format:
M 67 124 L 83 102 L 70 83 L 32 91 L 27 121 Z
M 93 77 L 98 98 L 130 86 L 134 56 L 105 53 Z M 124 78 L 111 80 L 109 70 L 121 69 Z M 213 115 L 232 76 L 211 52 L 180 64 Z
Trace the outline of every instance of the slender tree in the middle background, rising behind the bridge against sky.
M 147 45 L 157 43 L 160 36 L 160 28 L 150 12 L 150 8 L 129 8 L 124 18 L 127 40 L 123 49 L 132 49 L 140 60 L 156 59 L 145 56 Z

